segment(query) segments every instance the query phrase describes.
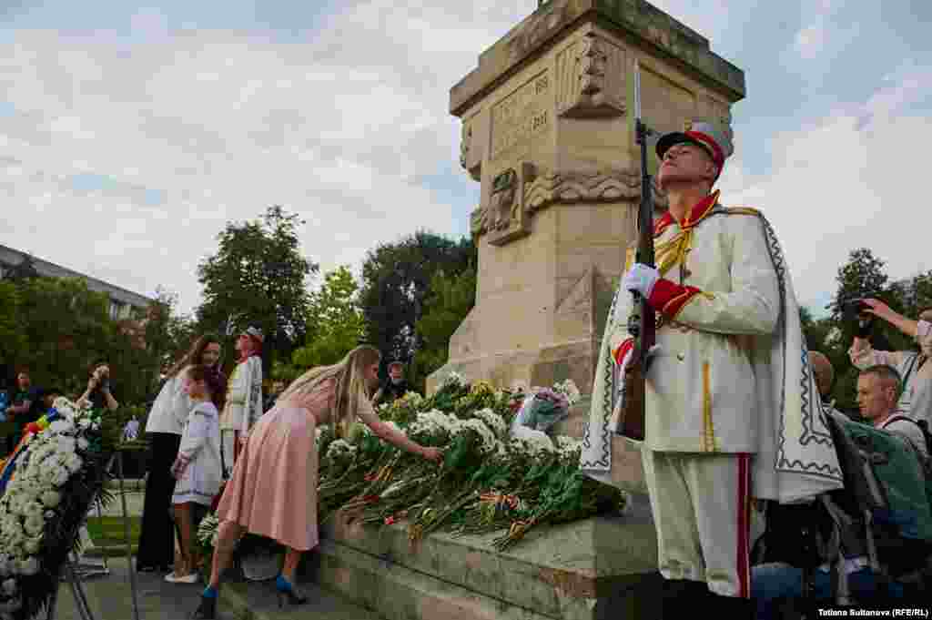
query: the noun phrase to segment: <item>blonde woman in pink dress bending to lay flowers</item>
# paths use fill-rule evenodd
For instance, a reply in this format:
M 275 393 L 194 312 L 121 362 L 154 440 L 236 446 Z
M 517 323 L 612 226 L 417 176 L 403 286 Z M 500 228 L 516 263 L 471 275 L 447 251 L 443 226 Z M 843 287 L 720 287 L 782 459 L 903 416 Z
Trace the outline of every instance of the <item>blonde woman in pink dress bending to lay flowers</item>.
M 341 436 L 350 422 L 359 419 L 398 448 L 433 462 L 443 458 L 441 450 L 420 446 L 378 419 L 370 398 L 378 387 L 380 359 L 377 349 L 362 346 L 349 351 L 339 364 L 308 370 L 254 425 L 217 507 L 220 527 L 211 583 L 201 594 L 194 618 L 215 617 L 220 574 L 244 530 L 288 548 L 275 581 L 280 603 L 307 600 L 295 590 L 294 576 L 301 554 L 318 543 L 318 424 L 333 424 Z

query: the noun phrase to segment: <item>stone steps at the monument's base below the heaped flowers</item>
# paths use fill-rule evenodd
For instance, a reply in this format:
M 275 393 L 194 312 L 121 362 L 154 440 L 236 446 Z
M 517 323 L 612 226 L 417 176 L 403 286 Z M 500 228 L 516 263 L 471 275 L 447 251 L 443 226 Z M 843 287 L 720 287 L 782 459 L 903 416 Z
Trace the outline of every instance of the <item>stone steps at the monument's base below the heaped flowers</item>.
M 659 575 L 649 509 L 531 530 L 503 553 L 491 546 L 500 533 L 433 533 L 412 550 L 404 522 L 335 519 L 323 527 L 317 578 L 389 620 L 595 620 L 609 607 L 650 617 Z

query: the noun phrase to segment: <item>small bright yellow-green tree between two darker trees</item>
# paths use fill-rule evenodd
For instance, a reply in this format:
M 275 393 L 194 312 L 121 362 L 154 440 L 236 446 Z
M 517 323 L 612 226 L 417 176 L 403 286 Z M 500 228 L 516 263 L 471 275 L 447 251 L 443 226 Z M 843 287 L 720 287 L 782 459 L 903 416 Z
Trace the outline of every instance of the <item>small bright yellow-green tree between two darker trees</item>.
M 308 341 L 292 356 L 298 368 L 336 364 L 359 344 L 365 333 L 363 310 L 359 306 L 359 284 L 349 268 L 339 267 L 324 276 L 321 290 L 308 305 Z M 287 369 L 280 366 L 282 379 Z

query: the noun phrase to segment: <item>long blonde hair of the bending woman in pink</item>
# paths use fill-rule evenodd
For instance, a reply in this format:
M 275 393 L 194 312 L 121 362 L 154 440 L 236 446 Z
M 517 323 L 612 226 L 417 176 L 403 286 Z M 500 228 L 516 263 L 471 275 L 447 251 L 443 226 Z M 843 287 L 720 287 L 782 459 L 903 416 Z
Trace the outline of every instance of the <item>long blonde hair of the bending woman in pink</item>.
M 330 420 L 336 436 L 342 437 L 349 422 L 356 419 L 360 408 L 369 403 L 370 394 L 365 370 L 378 364 L 381 358 L 381 353 L 375 347 L 356 347 L 335 365 L 316 366 L 292 381 L 279 396 L 279 401 L 284 402 L 295 394 L 311 393 L 330 379 L 336 379 L 334 408 Z

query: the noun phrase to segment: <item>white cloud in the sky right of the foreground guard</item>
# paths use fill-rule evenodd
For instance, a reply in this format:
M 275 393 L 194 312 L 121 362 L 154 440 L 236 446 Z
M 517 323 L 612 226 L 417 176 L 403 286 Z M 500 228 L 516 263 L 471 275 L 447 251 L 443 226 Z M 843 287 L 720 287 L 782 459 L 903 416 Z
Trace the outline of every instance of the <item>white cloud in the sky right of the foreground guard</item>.
M 838 268 L 859 247 L 887 261 L 893 278 L 932 267 L 916 191 L 928 176 L 932 117 L 908 111 L 930 87 L 932 67 L 905 65 L 866 102 L 775 135 L 766 176 L 748 175 L 740 160 L 726 167 L 722 200 L 767 215 L 803 303 L 833 293 Z

